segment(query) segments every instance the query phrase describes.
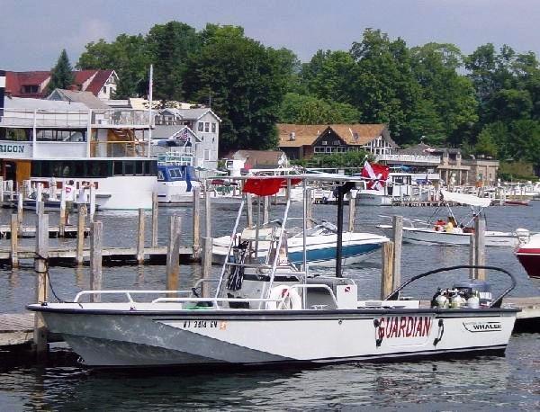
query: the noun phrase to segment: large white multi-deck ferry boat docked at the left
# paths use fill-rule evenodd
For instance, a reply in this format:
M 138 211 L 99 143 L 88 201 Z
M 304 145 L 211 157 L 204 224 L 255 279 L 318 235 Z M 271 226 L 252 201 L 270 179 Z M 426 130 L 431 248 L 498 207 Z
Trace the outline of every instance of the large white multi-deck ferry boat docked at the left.
M 151 208 L 157 161 L 149 157 L 148 110 L 4 97 L 0 72 L 0 171 L 4 180 L 94 185 L 101 210 Z M 149 138 L 149 133 L 148 133 Z

